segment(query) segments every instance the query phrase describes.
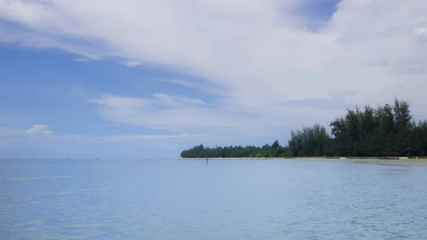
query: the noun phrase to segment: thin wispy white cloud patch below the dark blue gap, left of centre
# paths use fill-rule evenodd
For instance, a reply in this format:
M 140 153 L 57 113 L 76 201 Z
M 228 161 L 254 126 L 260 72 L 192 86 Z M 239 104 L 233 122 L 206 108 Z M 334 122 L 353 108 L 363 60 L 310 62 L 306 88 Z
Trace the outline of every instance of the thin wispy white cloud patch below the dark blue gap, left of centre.
M 181 98 L 164 93 L 156 93 L 152 98 L 102 95 L 101 98 L 90 100 L 99 106 L 99 113 L 102 116 L 116 122 L 173 130 L 226 127 L 227 124 L 218 121 L 221 115 L 215 113 L 216 110 L 204 108 L 199 101 L 203 102 L 201 100 L 184 102 Z

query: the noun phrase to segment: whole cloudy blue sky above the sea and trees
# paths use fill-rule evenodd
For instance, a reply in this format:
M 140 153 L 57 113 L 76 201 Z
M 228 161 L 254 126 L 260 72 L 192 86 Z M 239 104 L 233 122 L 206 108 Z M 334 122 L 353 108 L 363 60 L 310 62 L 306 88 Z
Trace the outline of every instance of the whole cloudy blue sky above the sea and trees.
M 0 157 L 287 145 L 394 98 L 427 118 L 425 0 L 0 0 Z

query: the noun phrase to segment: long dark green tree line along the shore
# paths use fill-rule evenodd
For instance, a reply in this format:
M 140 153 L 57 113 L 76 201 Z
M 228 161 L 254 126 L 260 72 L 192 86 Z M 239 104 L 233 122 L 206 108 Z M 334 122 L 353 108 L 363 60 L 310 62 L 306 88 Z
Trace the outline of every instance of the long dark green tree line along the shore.
M 330 122 L 331 132 L 315 124 L 291 130 L 287 146 L 205 147 L 181 152 L 181 157 L 402 157 L 427 156 L 427 120 L 415 122 L 406 101 L 377 108 L 347 109 Z

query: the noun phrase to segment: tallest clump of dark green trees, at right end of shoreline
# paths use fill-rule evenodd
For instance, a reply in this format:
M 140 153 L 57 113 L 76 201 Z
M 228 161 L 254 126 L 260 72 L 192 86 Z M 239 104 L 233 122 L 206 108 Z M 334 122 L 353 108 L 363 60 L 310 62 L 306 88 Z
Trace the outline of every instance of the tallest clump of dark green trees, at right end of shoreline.
M 376 110 L 347 110 L 347 115 L 331 122 L 332 139 L 327 156 L 395 157 L 425 155 L 427 132 L 423 122 L 412 120 L 409 104 L 394 101 Z

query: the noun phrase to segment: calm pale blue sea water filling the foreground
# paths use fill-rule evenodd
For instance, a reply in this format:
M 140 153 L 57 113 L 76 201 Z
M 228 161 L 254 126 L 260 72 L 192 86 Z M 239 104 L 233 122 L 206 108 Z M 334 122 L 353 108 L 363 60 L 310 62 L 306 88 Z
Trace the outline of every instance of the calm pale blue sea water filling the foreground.
M 427 239 L 427 167 L 0 160 L 0 239 Z

